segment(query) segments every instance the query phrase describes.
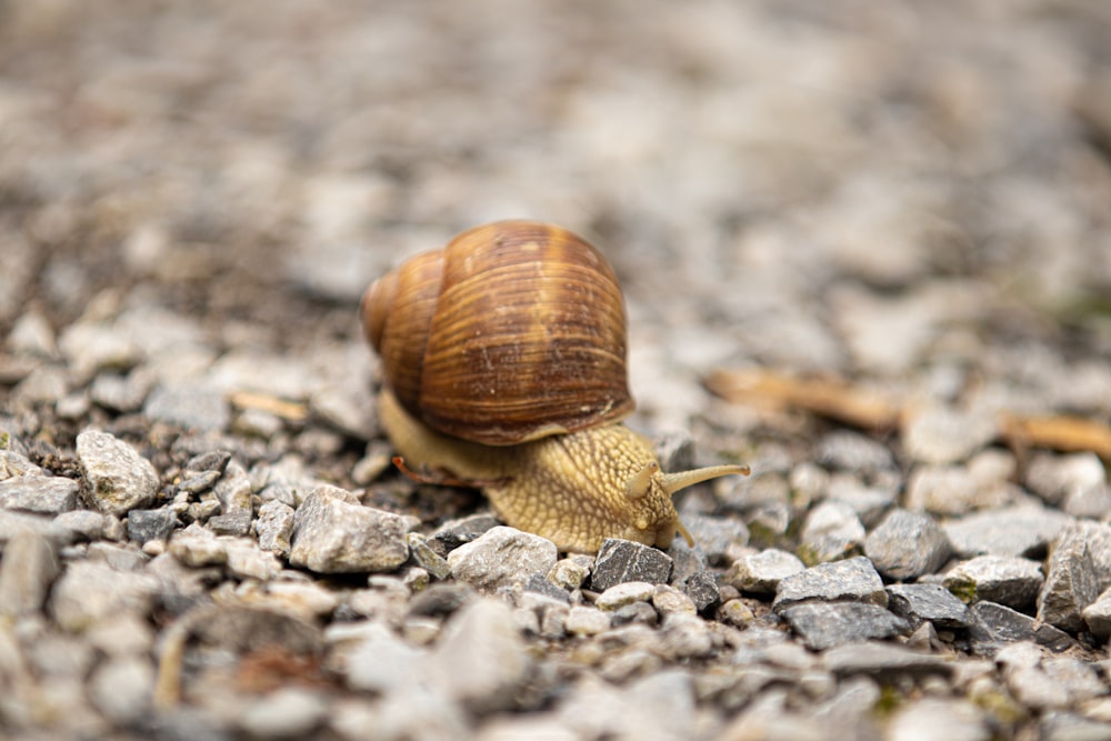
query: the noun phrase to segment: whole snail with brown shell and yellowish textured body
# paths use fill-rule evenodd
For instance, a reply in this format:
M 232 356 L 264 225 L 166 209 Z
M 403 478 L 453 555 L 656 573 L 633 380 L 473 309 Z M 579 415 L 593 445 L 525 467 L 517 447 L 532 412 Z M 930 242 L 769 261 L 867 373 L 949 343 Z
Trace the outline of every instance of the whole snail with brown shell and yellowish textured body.
M 594 552 L 607 538 L 667 548 L 677 533 L 693 545 L 671 495 L 749 472 L 664 473 L 621 423 L 634 408 L 623 298 L 570 231 L 476 227 L 377 280 L 360 313 L 399 467 L 482 489 L 504 522 L 562 551 Z

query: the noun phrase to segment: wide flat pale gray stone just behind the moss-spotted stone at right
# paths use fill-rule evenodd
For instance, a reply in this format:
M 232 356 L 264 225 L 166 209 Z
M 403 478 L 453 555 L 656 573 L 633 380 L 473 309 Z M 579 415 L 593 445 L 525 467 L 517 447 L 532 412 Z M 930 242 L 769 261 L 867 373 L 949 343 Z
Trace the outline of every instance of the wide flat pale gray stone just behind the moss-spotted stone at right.
M 1072 518 L 1058 510 L 1019 505 L 948 520 L 941 527 L 961 558 L 984 554 L 1038 558 L 1071 522 Z

